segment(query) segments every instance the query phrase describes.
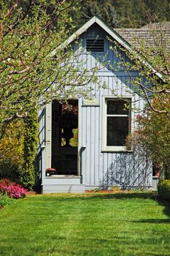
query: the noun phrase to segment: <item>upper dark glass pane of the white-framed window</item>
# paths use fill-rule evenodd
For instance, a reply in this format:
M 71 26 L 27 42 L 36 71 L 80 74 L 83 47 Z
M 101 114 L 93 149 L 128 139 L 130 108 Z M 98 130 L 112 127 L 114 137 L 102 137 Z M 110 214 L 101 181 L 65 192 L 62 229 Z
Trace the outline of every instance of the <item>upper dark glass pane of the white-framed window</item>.
M 125 100 L 107 100 L 107 115 L 128 115 L 125 103 Z

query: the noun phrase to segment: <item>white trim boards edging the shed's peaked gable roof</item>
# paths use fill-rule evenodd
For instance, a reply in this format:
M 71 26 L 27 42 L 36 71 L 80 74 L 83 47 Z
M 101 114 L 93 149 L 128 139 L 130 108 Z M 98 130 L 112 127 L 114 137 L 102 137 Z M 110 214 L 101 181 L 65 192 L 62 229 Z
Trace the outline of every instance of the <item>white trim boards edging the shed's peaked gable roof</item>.
M 98 26 L 101 27 L 101 29 L 104 29 L 104 31 L 107 32 L 107 34 L 109 34 L 109 36 L 114 39 L 115 41 L 117 41 L 120 45 L 123 46 L 123 48 L 125 48 L 126 50 L 132 50 L 131 49 L 131 45 L 129 42 L 126 41 L 126 39 L 123 39 L 123 37 L 119 34 L 120 31 L 118 29 L 112 29 L 111 27 L 109 27 L 103 20 L 101 20 L 100 18 L 98 18 L 98 16 L 94 16 L 93 18 L 91 18 L 90 20 L 88 20 L 87 23 L 85 23 L 82 27 L 80 27 L 80 29 L 78 29 L 76 32 L 74 32 L 74 34 L 72 34 L 71 37 L 69 37 L 68 39 L 66 39 L 65 42 L 63 42 L 63 44 L 61 46 L 59 46 L 59 48 L 65 48 L 67 45 L 69 45 L 70 43 L 74 42 L 75 39 L 77 39 L 78 37 L 80 37 L 81 34 L 83 34 L 85 31 L 87 31 L 90 26 L 92 26 L 93 24 L 98 24 Z M 119 33 L 117 33 L 117 31 Z M 55 48 L 55 50 L 53 50 L 50 54 L 50 56 L 54 56 L 56 51 L 58 48 Z M 139 56 L 140 58 L 140 56 Z M 149 67 L 150 69 L 152 69 L 152 71 L 155 73 L 155 75 L 157 75 L 159 78 L 162 79 L 162 75 L 160 72 L 157 72 L 152 65 L 147 62 L 147 61 L 143 61 L 144 65 L 146 65 L 147 67 Z

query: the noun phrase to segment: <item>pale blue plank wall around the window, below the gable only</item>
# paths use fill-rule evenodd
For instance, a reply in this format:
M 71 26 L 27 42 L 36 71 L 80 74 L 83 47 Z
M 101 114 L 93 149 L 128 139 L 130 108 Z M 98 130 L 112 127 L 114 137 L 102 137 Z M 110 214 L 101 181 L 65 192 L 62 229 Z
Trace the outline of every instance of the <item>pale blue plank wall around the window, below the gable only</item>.
M 98 106 L 83 105 L 81 110 L 81 134 L 80 143 L 85 147 L 82 151 L 82 182 L 87 188 L 92 187 L 151 187 L 152 165 L 144 152 L 134 148 L 133 152 L 104 152 L 102 151 L 102 111 L 103 96 L 111 96 L 110 88 L 118 91 L 125 86 L 125 76 L 100 77 L 107 80 L 107 89 L 100 89 L 96 94 Z M 118 80 L 118 81 L 117 81 Z M 117 86 L 117 84 L 119 84 Z M 131 96 L 125 92 L 123 96 Z M 138 96 L 134 96 L 136 100 Z M 142 109 L 144 102 L 139 99 L 135 108 Z M 134 112 L 133 128 L 135 129 L 135 118 L 139 112 Z

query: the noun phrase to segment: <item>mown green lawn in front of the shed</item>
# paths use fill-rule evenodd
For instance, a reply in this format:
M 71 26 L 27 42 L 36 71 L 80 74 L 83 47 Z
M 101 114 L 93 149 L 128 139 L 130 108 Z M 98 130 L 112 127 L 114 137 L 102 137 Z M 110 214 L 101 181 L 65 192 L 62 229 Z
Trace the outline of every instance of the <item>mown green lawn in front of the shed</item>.
M 0 255 L 170 255 L 169 216 L 152 193 L 28 196 L 0 210 Z

